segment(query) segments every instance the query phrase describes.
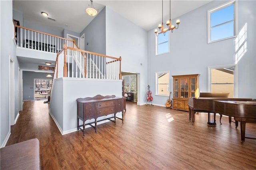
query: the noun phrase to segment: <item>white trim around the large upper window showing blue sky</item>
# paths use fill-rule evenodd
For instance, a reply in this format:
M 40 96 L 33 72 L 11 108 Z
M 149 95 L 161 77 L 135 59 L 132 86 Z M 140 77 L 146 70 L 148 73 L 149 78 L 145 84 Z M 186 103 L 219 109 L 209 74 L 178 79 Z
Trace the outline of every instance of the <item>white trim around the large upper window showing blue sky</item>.
M 227 6 L 230 6 L 232 4 L 234 4 L 234 36 L 211 41 L 211 15 L 210 14 L 213 13 L 213 12 L 216 12 L 218 10 L 221 10 L 223 8 L 226 8 Z M 212 9 L 210 9 L 210 10 L 207 10 L 207 43 L 214 43 L 214 42 L 219 42 L 219 41 L 222 41 L 222 40 L 227 40 L 227 39 L 230 39 L 230 38 L 236 38 L 237 30 L 238 30 L 238 26 L 237 26 L 237 18 L 238 18 L 237 10 L 238 10 L 238 7 L 237 7 L 236 0 L 231 0 L 231 1 L 226 2 L 226 3 L 224 3 L 224 4 L 220 5 L 220 6 L 217 6 L 217 7 L 214 7 Z M 226 24 L 226 23 L 227 22 L 224 22 L 222 24 L 218 24 L 218 26 Z

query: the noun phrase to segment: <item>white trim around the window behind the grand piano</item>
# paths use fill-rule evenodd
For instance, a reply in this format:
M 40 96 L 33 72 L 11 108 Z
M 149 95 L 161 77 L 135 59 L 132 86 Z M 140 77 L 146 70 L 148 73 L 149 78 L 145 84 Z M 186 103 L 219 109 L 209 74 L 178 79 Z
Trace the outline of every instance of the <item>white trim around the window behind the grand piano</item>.
M 215 66 L 209 66 L 207 67 L 207 92 L 211 92 L 211 70 L 212 69 L 223 69 L 223 68 L 229 68 L 234 67 L 234 98 L 237 98 L 238 96 L 238 70 L 236 64 L 227 64 L 227 65 L 215 65 Z

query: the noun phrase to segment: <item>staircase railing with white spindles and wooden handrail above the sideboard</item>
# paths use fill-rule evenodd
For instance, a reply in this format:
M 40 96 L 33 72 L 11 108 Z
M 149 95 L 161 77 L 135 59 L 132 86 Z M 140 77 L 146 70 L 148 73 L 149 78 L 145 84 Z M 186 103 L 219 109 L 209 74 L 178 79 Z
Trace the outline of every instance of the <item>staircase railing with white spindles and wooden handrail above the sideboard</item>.
M 67 47 L 57 54 L 54 78 L 121 79 L 121 57 Z

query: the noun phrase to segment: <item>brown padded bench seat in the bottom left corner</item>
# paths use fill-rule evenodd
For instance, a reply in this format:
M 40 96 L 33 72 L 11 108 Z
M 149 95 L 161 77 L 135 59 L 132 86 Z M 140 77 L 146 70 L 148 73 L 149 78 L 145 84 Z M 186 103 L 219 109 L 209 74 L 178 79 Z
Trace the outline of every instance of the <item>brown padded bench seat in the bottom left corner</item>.
M 39 140 L 37 138 L 0 149 L 0 169 L 40 170 Z

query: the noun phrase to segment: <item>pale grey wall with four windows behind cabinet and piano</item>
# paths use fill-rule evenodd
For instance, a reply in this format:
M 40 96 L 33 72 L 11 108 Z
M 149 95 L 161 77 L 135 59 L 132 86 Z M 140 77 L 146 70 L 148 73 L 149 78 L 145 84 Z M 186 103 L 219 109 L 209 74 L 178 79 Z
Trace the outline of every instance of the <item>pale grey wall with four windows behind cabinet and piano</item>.
M 148 32 L 148 82 L 153 103 L 164 105 L 168 99 L 154 95 L 156 71 L 170 71 L 170 75 L 200 74 L 199 89 L 206 92 L 207 67 L 235 63 L 234 38 L 207 44 L 207 10 L 224 2 L 213 1 L 178 17 L 181 22 L 178 30 L 169 33 L 170 53 L 156 56 L 154 29 Z M 255 98 L 255 1 L 238 1 L 238 31 L 246 22 L 248 51 L 238 63 L 238 97 Z M 171 76 L 170 89 L 173 89 Z

